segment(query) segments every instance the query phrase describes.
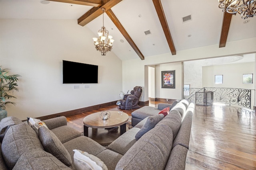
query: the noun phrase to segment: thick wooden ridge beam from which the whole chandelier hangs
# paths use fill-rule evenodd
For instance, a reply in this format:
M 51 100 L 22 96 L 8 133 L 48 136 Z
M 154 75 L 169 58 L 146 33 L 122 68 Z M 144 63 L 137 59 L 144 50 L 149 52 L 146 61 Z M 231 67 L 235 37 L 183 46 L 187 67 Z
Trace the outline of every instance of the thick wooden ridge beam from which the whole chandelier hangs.
M 121 2 L 122 0 L 104 0 L 102 6 L 100 8 L 105 8 L 106 12 L 110 10 L 113 6 Z M 102 10 L 99 7 L 93 7 L 88 12 L 86 12 L 83 16 L 78 19 L 78 24 L 81 26 L 86 25 L 90 21 L 94 20 L 98 16 L 102 14 Z

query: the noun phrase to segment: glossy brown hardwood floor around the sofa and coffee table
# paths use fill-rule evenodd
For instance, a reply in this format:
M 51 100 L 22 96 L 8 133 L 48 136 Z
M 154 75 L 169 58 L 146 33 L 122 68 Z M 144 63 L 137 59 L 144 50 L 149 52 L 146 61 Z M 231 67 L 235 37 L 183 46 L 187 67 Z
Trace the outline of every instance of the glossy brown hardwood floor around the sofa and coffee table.
M 160 102 L 149 102 L 157 107 Z M 68 125 L 83 131 L 86 115 L 119 110 L 113 105 L 67 117 Z M 131 110 L 122 110 L 131 115 Z M 256 170 L 255 111 L 214 103 L 195 106 L 186 170 Z

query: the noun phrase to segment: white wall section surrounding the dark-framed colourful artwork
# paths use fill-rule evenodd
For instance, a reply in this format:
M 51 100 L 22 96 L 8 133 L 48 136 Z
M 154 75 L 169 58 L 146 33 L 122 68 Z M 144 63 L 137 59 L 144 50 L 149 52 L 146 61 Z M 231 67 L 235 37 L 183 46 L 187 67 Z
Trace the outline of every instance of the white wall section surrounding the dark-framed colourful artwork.
M 161 71 L 175 70 L 175 88 L 162 88 Z M 182 99 L 182 63 L 156 65 L 156 98 Z

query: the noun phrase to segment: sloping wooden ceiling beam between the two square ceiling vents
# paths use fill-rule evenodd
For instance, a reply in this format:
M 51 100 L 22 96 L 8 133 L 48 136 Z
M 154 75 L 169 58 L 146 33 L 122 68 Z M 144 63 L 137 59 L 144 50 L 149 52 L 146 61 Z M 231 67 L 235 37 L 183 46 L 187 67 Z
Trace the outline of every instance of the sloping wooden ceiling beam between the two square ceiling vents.
M 169 45 L 170 51 L 172 55 L 176 55 L 176 49 L 174 47 L 174 43 L 172 41 L 172 35 L 168 26 L 168 23 L 165 18 L 164 9 L 162 7 L 162 3 L 160 0 L 153 0 L 154 6 L 156 8 L 156 13 L 158 15 L 158 18 L 160 20 L 160 23 L 162 25 L 164 35 L 166 37 L 167 43 Z

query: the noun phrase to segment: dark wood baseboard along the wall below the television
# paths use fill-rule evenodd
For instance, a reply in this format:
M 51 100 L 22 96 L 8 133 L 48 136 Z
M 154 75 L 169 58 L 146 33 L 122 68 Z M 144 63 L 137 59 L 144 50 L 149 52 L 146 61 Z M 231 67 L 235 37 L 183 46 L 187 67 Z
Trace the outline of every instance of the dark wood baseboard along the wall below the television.
M 95 106 L 89 106 L 89 107 L 84 107 L 84 108 L 80 108 L 80 109 L 75 109 L 75 110 L 70 110 L 70 111 L 64 111 L 61 113 L 55 113 L 52 115 L 46 115 L 46 116 L 41 116 L 41 117 L 36 117 L 37 119 L 41 119 L 41 120 L 46 120 L 46 119 L 51 119 L 54 117 L 60 117 L 60 116 L 72 116 L 72 115 L 77 115 L 80 113 L 84 113 L 86 111 L 91 111 L 91 110 L 95 110 L 95 109 L 100 109 L 102 107 L 107 107 L 107 106 L 111 106 L 116 104 L 117 101 L 113 101 L 113 102 L 108 102 L 108 103 L 104 103 L 104 104 L 98 104 Z

